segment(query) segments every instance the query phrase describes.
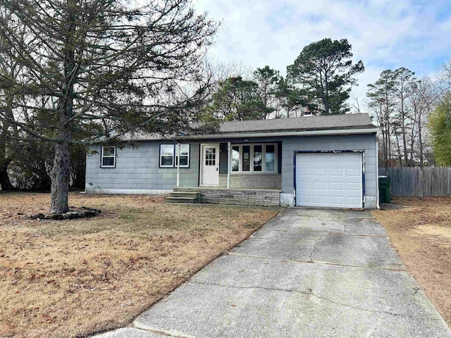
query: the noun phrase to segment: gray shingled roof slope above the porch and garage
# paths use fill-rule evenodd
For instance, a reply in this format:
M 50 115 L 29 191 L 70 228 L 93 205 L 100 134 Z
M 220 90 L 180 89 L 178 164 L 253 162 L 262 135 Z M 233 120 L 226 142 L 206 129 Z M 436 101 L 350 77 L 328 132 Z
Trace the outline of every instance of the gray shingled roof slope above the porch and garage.
M 297 130 L 307 131 L 366 128 L 376 128 L 371 123 L 371 118 L 368 114 L 347 114 L 224 122 L 221 123 L 220 130 L 213 134 L 245 134 L 247 132 L 285 132 Z

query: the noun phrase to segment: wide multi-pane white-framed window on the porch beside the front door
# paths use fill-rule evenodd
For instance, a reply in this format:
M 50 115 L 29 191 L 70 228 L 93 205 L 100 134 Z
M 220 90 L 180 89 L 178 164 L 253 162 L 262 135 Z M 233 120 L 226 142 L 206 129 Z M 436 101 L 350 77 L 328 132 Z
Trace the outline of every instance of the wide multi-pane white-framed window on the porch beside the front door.
M 276 144 L 235 144 L 232 173 L 276 173 Z

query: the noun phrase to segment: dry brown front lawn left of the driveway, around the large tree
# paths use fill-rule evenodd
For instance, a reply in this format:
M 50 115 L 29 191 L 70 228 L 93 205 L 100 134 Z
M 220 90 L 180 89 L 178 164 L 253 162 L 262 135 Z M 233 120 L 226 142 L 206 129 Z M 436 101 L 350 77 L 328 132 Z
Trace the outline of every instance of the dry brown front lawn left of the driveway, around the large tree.
M 69 202 L 102 213 L 30 220 L 49 209 L 49 194 L 0 194 L 0 337 L 84 337 L 125 325 L 278 213 L 154 196 Z

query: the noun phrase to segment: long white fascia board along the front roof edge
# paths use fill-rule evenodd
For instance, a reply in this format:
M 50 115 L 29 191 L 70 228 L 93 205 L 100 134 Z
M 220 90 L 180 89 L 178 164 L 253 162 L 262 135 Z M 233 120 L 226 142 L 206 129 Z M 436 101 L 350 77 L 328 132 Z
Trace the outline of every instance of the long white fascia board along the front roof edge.
M 242 134 L 206 134 L 177 137 L 177 139 L 237 139 L 242 137 L 280 137 L 280 136 L 314 136 L 314 135 L 346 135 L 346 134 L 372 134 L 378 132 L 377 128 L 342 129 L 342 130 L 307 130 L 294 132 L 255 132 Z

